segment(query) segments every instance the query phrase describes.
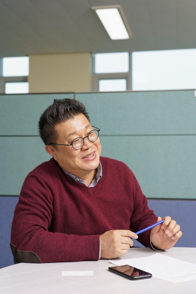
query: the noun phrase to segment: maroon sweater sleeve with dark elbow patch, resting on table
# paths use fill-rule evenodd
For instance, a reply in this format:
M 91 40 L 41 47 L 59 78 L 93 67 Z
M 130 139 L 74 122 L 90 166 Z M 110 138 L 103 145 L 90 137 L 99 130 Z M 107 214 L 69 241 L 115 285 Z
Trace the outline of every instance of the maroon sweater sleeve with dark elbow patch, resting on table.
M 52 191 L 40 177 L 29 174 L 16 205 L 11 250 L 17 262 L 70 262 L 98 260 L 99 235 L 77 236 L 50 232 Z

